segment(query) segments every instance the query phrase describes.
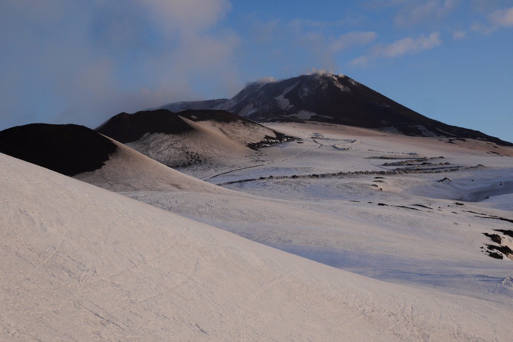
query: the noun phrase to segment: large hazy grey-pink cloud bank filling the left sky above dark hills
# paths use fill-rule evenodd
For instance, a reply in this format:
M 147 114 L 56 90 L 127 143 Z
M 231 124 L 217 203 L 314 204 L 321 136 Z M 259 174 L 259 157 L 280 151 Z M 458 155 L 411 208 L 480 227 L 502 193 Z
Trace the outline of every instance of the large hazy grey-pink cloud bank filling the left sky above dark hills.
M 0 123 L 96 126 L 121 112 L 238 90 L 228 0 L 0 2 Z M 224 90 L 224 91 L 223 91 Z M 16 94 L 10 96 L 9 94 Z M 51 114 L 49 114 L 51 113 Z

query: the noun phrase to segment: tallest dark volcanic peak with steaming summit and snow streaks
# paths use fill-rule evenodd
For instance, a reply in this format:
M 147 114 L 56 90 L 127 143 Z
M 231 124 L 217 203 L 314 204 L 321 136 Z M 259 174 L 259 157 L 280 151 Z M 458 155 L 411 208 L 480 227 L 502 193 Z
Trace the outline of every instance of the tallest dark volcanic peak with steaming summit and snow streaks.
M 344 75 L 314 73 L 253 83 L 220 109 L 263 122 L 315 120 L 366 128 L 393 127 L 406 135 L 476 138 L 513 146 L 479 131 L 430 119 Z

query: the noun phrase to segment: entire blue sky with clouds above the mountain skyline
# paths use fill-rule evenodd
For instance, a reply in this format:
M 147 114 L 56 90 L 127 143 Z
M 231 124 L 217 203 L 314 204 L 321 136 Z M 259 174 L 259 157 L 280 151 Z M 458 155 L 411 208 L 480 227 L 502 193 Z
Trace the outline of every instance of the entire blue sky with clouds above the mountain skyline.
M 7 0 L 0 29 L 0 129 L 326 70 L 513 141 L 513 0 Z

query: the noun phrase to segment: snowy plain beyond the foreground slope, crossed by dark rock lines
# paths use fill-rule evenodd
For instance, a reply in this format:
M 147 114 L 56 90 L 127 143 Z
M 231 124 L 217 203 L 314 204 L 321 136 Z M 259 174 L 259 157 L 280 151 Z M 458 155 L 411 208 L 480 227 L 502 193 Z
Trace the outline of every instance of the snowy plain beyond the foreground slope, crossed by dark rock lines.
M 239 194 L 124 194 L 339 269 L 512 308 L 510 148 L 340 125 L 271 127 L 303 140 L 210 177 Z

